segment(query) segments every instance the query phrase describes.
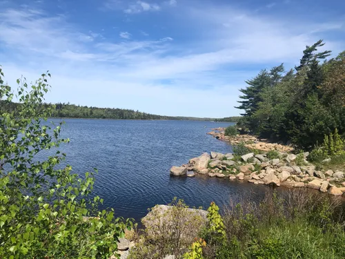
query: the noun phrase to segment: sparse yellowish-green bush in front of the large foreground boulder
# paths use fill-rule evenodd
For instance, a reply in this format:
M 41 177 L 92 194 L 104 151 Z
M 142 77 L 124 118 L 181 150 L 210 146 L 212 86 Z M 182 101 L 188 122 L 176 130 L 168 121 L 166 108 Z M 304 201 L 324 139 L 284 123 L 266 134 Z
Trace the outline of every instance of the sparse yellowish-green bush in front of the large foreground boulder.
M 197 238 L 204 219 L 197 211 L 190 211 L 183 200 L 174 198 L 170 209 L 151 209 L 142 219 L 146 226 L 139 236 L 139 243 L 131 249 L 129 258 L 162 258 L 174 255 L 177 258 L 188 251 Z

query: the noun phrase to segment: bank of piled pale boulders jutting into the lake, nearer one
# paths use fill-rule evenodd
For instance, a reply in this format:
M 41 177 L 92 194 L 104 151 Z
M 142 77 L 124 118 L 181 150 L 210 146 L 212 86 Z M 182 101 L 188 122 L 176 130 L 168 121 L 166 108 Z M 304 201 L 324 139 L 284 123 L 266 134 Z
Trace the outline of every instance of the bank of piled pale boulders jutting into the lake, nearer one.
M 331 195 L 345 193 L 345 174 L 342 171 L 317 171 L 306 160 L 309 153 L 303 153 L 304 166 L 297 166 L 297 155 L 279 152 L 279 158 L 269 159 L 265 153 L 247 153 L 240 158 L 232 153 L 204 153 L 189 160 L 188 164 L 172 166 L 171 176 L 208 175 L 213 178 L 228 178 L 253 184 L 286 186 L 288 188 L 317 189 Z

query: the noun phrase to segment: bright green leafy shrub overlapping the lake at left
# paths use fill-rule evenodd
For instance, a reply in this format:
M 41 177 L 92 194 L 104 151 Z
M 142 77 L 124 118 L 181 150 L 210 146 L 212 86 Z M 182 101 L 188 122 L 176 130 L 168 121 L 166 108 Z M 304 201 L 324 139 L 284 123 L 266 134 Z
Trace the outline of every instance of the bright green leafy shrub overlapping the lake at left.
M 114 212 L 98 211 L 103 202 L 88 198 L 94 178 L 72 174 L 63 166 L 58 150 L 68 139 L 59 137 L 47 117 L 52 106 L 43 106 L 48 77 L 43 74 L 29 86 L 18 79 L 17 92 L 3 81 L 0 100 L 17 97 L 13 111 L 0 110 L 0 258 L 109 258 L 130 222 Z M 38 155 L 47 157 L 40 160 Z M 88 218 L 86 218 L 88 217 Z

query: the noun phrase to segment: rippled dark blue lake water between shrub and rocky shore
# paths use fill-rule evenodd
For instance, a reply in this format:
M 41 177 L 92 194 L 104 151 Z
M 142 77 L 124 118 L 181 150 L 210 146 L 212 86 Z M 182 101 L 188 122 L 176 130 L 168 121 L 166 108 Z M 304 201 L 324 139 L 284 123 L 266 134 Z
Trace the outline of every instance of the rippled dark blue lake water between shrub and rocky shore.
M 59 122 L 59 119 L 52 119 Z M 170 177 L 171 166 L 186 164 L 204 152 L 231 153 L 229 144 L 206 135 L 230 123 L 64 119 L 61 150 L 75 173 L 97 168 L 95 193 L 117 216 L 140 220 L 155 204 L 184 199 L 192 207 L 219 207 L 250 196 L 261 198 L 267 186 L 196 175 Z

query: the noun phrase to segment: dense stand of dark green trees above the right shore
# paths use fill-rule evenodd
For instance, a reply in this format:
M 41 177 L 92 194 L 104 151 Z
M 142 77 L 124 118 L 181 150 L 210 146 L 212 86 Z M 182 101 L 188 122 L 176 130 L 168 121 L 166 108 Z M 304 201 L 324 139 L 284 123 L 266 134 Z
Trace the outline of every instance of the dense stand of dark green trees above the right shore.
M 326 60 L 331 51 L 318 52 L 322 46 L 307 46 L 295 70 L 281 64 L 246 81 L 239 128 L 309 151 L 335 128 L 344 135 L 345 52 Z

